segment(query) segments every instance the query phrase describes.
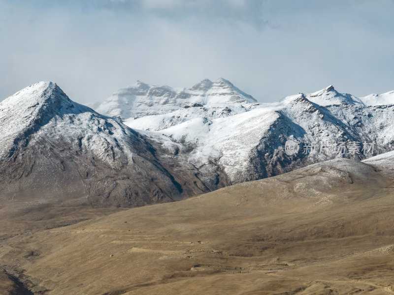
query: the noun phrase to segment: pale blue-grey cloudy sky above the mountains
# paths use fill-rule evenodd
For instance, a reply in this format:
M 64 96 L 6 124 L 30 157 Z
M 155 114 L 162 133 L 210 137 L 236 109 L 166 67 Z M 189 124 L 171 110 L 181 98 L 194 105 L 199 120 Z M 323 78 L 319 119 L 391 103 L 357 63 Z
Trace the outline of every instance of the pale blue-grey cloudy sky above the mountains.
M 387 92 L 393 15 L 393 0 L 0 0 L 0 100 L 42 80 L 82 103 L 219 77 L 259 101 Z

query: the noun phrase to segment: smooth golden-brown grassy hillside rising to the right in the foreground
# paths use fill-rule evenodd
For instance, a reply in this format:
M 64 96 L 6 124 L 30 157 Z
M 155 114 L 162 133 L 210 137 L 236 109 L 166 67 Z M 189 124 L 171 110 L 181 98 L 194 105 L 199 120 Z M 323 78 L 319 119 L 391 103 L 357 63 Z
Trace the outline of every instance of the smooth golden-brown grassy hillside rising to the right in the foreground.
M 393 193 L 337 159 L 27 232 L 0 258 L 44 294 L 393 294 Z

